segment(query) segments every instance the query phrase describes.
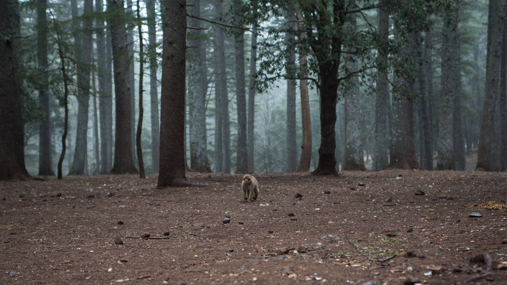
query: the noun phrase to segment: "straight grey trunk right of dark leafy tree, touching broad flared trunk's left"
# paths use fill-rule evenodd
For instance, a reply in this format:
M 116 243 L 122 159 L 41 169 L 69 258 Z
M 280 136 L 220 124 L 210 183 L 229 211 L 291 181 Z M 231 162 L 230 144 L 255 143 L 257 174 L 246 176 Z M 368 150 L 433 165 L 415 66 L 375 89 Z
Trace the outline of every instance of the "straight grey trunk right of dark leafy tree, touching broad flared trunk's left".
M 387 110 L 389 106 L 389 80 L 387 78 L 387 41 L 389 39 L 389 13 L 386 8 L 378 10 L 378 40 L 379 40 L 379 73 L 377 75 L 377 90 L 375 97 L 375 145 L 373 170 L 384 170 L 389 165 L 389 138 L 387 127 Z

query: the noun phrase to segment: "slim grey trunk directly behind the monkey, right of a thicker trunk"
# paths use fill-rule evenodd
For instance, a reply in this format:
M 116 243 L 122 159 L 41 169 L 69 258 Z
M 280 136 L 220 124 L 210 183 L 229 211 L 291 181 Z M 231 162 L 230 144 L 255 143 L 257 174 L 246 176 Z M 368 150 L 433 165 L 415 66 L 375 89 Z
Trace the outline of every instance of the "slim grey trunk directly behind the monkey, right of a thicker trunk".
M 253 133 L 253 123 L 255 120 L 255 90 L 253 85 L 255 78 L 253 75 L 257 67 L 257 5 L 253 4 L 253 24 L 251 34 L 251 49 L 250 49 L 250 72 L 248 74 L 248 113 L 246 118 L 246 155 L 248 161 L 248 173 L 255 172 L 255 164 L 253 161 L 253 145 L 255 144 L 255 137 Z

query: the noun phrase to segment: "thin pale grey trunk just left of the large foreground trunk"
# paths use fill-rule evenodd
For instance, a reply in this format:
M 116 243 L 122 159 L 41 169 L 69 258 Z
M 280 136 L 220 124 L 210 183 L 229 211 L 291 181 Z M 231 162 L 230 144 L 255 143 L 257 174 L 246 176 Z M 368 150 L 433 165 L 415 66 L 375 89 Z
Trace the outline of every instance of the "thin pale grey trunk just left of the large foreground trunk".
M 150 110 L 152 126 L 152 171 L 158 173 L 159 168 L 159 103 L 157 88 L 157 13 L 155 11 L 155 0 L 147 0 L 148 15 L 148 52 L 150 55 Z

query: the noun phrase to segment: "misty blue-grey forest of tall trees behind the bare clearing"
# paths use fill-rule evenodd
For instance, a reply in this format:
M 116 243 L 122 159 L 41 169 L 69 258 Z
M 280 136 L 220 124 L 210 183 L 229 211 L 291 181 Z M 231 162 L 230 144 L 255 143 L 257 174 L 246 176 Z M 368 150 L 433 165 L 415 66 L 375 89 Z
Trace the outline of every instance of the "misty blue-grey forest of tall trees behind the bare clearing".
M 503 2 L 187 1 L 188 168 L 504 171 Z M 9 0 L 30 175 L 159 172 L 168 3 Z

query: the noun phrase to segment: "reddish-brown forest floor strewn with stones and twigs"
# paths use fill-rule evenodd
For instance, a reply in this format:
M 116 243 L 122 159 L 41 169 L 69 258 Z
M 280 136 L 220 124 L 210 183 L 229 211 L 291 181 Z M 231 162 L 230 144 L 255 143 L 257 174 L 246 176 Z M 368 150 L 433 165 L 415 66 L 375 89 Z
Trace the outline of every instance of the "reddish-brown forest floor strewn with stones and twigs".
M 256 177 L 0 181 L 0 284 L 507 284 L 505 172 Z

